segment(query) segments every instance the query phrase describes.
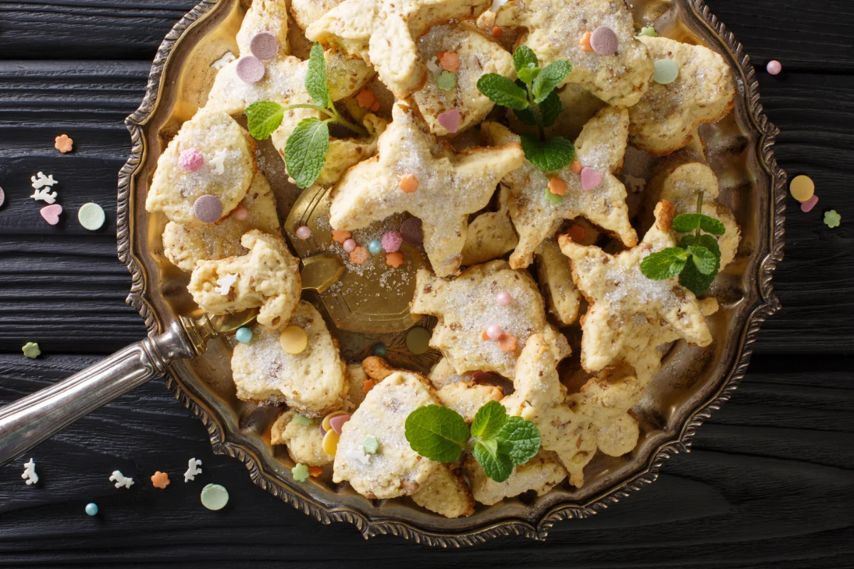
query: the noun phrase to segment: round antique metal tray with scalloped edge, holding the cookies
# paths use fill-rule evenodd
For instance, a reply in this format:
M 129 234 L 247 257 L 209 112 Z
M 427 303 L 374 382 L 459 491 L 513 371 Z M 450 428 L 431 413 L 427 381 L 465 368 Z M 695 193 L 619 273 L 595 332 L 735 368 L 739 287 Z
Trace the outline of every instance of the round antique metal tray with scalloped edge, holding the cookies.
M 234 38 L 246 8 L 241 0 L 206 0 L 185 15 L 155 56 L 142 105 L 126 119 L 132 154 L 119 174 L 119 258 L 132 274 L 127 302 L 143 316 L 149 334 L 161 333 L 177 316 L 197 313 L 185 290 L 187 276 L 163 255 L 165 221 L 145 212 L 149 181 L 162 149 L 204 102 L 213 83 L 210 63 L 226 50 L 236 51 Z M 662 35 L 717 50 L 733 68 L 734 111 L 703 133 L 721 180 L 722 201 L 734 210 L 742 230 L 736 262 L 718 279 L 722 311 L 710 319 L 717 341 L 706 350 L 676 345 L 670 352 L 635 409 L 641 431 L 635 450 L 620 458 L 597 455 L 580 489 L 559 486 L 546 496 L 478 506 L 475 514 L 457 520 L 418 508 L 408 498 L 368 500 L 329 478 L 294 483 L 284 448 L 270 444 L 275 409 L 235 397 L 231 348 L 225 340 L 213 340 L 204 357 L 174 364 L 167 386 L 208 428 L 214 452 L 236 457 L 255 484 L 324 524 L 348 521 L 365 537 L 393 534 L 460 547 L 505 535 L 545 539 L 558 520 L 586 518 L 616 504 L 657 479 L 670 456 L 690 450 L 699 426 L 744 377 L 760 324 L 780 309 L 771 277 L 783 256 L 786 174 L 774 159 L 779 131 L 763 114 L 750 58 L 705 3 L 635 0 L 633 11 L 635 21 L 655 20 Z M 266 164 L 275 170 L 278 156 L 271 158 Z M 276 189 L 277 173 L 267 173 Z M 284 219 L 293 200 L 278 191 L 277 197 Z

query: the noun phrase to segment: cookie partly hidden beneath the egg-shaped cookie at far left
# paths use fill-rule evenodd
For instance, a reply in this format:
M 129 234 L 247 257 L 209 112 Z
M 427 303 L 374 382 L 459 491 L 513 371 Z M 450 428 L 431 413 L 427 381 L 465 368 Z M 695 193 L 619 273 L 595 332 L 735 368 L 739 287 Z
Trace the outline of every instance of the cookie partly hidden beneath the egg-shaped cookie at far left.
M 243 210 L 241 210 L 243 207 Z M 163 253 L 178 267 L 190 272 L 199 259 L 236 257 L 247 250 L 240 238 L 249 229 L 278 234 L 276 199 L 270 184 L 260 171 L 246 198 L 218 224 L 178 224 L 170 221 L 163 230 Z

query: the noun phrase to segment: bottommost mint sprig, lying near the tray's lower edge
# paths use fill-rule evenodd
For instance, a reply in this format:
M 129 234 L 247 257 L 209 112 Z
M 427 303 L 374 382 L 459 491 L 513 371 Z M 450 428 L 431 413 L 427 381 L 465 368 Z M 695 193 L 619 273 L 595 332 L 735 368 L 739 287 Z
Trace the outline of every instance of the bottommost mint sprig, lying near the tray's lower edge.
M 419 407 L 407 416 L 405 435 L 412 450 L 437 462 L 454 462 L 463 450 L 471 449 L 483 472 L 496 482 L 504 482 L 513 467 L 528 462 L 540 449 L 541 440 L 534 423 L 508 416 L 497 401 L 477 410 L 471 433 L 453 409 Z

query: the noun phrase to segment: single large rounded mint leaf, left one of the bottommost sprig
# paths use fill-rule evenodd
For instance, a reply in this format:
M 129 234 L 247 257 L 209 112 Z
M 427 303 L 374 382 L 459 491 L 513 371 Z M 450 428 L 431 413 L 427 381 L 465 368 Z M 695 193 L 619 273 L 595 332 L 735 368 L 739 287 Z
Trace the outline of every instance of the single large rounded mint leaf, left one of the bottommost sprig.
M 453 409 L 427 405 L 407 416 L 405 435 L 412 450 L 424 458 L 454 462 L 469 438 L 469 426 Z

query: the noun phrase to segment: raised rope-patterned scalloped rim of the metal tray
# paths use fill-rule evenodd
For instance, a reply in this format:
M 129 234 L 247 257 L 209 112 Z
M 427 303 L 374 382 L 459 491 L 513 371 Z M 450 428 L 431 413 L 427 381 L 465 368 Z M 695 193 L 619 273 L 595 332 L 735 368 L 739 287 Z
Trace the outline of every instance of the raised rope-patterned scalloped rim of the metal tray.
M 759 137 L 757 143 L 757 159 L 769 177 L 769 189 L 771 196 L 769 200 L 769 251 L 757 264 L 758 287 L 762 301 L 753 307 L 751 314 L 747 317 L 742 329 L 739 349 L 736 353 L 736 363 L 730 369 L 728 376 L 722 381 L 722 385 L 701 404 L 681 426 L 676 438 L 660 444 L 646 462 L 646 467 L 635 473 L 629 479 L 623 480 L 614 486 L 594 496 L 582 505 L 561 504 L 544 514 L 536 524 L 524 520 L 502 520 L 498 523 L 477 526 L 466 531 L 454 531 L 453 533 L 441 533 L 427 531 L 403 521 L 377 519 L 373 520 L 352 508 L 339 507 L 334 511 L 326 509 L 323 505 L 313 501 L 310 496 L 298 495 L 288 486 L 274 479 L 271 474 L 266 473 L 254 452 L 242 444 L 229 440 L 222 421 L 219 421 L 202 404 L 197 402 L 190 393 L 185 392 L 178 380 L 173 377 L 173 372 L 167 375 L 167 386 L 172 390 L 188 409 L 198 416 L 208 429 L 213 451 L 217 454 L 228 455 L 237 458 L 249 469 L 251 479 L 256 485 L 266 491 L 278 496 L 284 502 L 290 503 L 304 514 L 309 514 L 323 524 L 333 521 L 348 521 L 355 525 L 365 538 L 377 535 L 395 535 L 411 539 L 415 543 L 426 543 L 443 548 L 459 548 L 465 545 L 484 543 L 489 539 L 500 536 L 524 536 L 537 540 L 544 540 L 548 531 L 559 520 L 581 519 L 598 514 L 605 508 L 616 504 L 621 499 L 639 491 L 645 485 L 649 485 L 658 479 L 658 469 L 671 456 L 681 452 L 690 452 L 691 444 L 697 429 L 703 421 L 711 417 L 713 411 L 721 408 L 728 401 L 732 393 L 739 386 L 740 380 L 745 376 L 747 366 L 752 355 L 752 345 L 756 341 L 757 333 L 762 323 L 781 309 L 780 301 L 774 294 L 771 280 L 777 264 L 783 258 L 783 235 L 785 233 L 785 211 L 786 211 L 786 172 L 783 171 L 775 160 L 774 142 L 780 131 L 773 125 L 763 112 L 762 104 L 759 102 L 758 81 L 756 72 L 752 67 L 750 57 L 745 53 L 743 46 L 735 39 L 732 32 L 711 13 L 711 9 L 705 5 L 704 0 L 677 0 L 685 3 L 689 12 L 696 18 L 699 24 L 705 26 L 714 36 L 720 39 L 721 44 L 729 51 L 743 84 L 743 96 L 746 98 L 746 108 L 752 127 L 756 129 Z M 132 305 L 145 320 L 149 334 L 155 334 L 158 327 L 157 317 L 148 297 L 148 276 L 143 271 L 143 266 L 137 258 L 137 250 L 134 247 L 133 235 L 133 212 L 131 196 L 135 187 L 135 176 L 145 158 L 146 148 L 143 136 L 143 124 L 153 113 L 157 98 L 161 90 L 163 72 L 167 59 L 173 48 L 184 36 L 190 26 L 196 23 L 203 15 L 217 4 L 216 0 L 203 0 L 202 3 L 184 15 L 173 29 L 167 34 L 157 50 L 154 62 L 149 73 L 149 81 L 146 86 L 143 102 L 136 112 L 125 120 L 125 125 L 131 133 L 132 152 L 126 164 L 119 172 L 118 208 L 116 213 L 118 253 L 120 260 L 126 264 L 132 276 L 131 292 L 126 302 Z

